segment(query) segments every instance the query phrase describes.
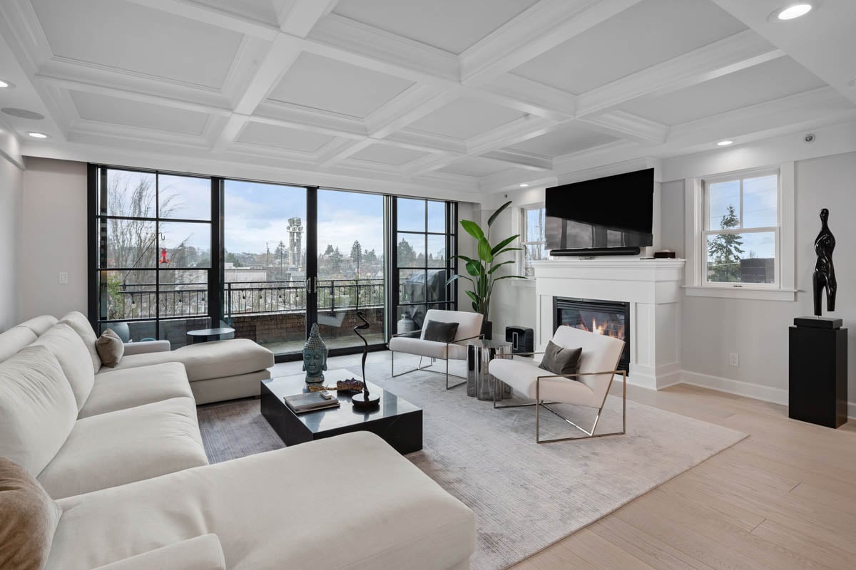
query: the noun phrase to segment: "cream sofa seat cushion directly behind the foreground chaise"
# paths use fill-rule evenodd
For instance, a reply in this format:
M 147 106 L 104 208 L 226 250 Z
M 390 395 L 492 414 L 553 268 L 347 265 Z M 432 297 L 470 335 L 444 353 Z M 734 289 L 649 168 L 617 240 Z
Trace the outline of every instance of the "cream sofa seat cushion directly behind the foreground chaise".
M 178 397 L 77 420 L 38 479 L 60 498 L 207 463 L 196 405 Z

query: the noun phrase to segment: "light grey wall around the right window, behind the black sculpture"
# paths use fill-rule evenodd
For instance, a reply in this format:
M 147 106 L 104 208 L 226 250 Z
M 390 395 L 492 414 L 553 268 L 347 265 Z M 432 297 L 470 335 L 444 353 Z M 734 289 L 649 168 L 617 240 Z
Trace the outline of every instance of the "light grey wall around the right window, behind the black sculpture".
M 757 164 L 755 166 L 763 166 Z M 796 302 L 684 297 L 681 361 L 689 381 L 719 385 L 731 391 L 774 401 L 787 401 L 788 326 L 794 317 L 812 314 L 811 272 L 817 259 L 814 238 L 817 216 L 829 208 L 835 234 L 835 313 L 845 326 L 856 321 L 856 152 L 796 162 Z M 701 173 L 699 173 L 701 174 Z M 684 182 L 663 184 L 663 247 L 684 251 Z M 826 314 L 826 303 L 823 303 Z M 850 400 L 856 400 L 856 332 L 849 335 L 847 356 Z M 740 355 L 740 367 L 728 366 L 728 353 Z M 697 376 L 702 374 L 704 376 Z M 710 376 L 713 378 L 705 378 Z M 749 386 L 732 383 L 737 380 Z M 757 387 L 756 387 L 757 386 Z

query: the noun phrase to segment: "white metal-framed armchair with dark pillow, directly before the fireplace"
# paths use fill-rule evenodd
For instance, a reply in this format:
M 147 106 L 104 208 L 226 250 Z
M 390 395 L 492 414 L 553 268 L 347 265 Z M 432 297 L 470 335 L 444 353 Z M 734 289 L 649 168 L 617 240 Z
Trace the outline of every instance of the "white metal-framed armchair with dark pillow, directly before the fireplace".
M 608 337 L 596 332 L 587 332 L 571 326 L 560 326 L 556 329 L 552 341 L 562 348 L 582 348 L 580 365 L 575 374 L 554 374 L 544 368 L 539 368 L 539 360 L 496 358 L 490 361 L 488 371 L 494 379 L 511 386 L 514 391 L 522 393 L 528 398 L 535 400 L 534 403 L 497 406 L 496 390 L 494 389 L 494 408 L 519 408 L 520 406 L 535 406 L 535 441 L 538 444 L 546 444 L 556 441 L 567 441 L 568 439 L 600 438 L 610 435 L 621 435 L 627 430 L 627 373 L 617 370 L 618 362 L 621 360 L 621 352 L 624 350 L 624 341 L 620 338 Z M 529 355 L 543 355 L 543 352 L 533 352 Z M 615 374 L 621 374 L 624 386 L 621 395 L 621 432 L 598 433 L 597 421 L 603 412 L 603 404 L 609 394 L 609 388 L 615 379 Z M 578 406 L 596 408 L 597 414 L 591 430 L 586 430 L 573 421 L 568 420 L 550 408 L 550 403 L 568 403 Z M 545 408 L 558 415 L 571 426 L 586 434 L 578 438 L 555 438 L 541 439 L 540 433 L 540 409 Z

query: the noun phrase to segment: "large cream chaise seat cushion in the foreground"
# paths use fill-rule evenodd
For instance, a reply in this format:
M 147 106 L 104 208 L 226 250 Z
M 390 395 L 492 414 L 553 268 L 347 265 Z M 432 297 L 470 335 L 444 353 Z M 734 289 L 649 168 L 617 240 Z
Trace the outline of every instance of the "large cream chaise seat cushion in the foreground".
M 307 492 L 318 473 L 348 473 L 348 488 L 360 491 Z M 475 549 L 473 511 L 369 432 L 59 504 L 48 570 L 90 570 L 208 532 L 220 539 L 230 570 L 436 570 L 456 567 Z

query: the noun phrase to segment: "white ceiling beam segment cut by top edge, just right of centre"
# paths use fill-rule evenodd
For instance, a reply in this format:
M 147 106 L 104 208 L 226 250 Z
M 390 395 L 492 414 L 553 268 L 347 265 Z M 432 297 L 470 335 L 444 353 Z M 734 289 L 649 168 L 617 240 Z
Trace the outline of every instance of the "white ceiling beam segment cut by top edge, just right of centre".
M 481 85 L 641 0 L 540 0 L 461 54 L 461 81 Z

